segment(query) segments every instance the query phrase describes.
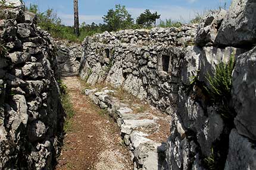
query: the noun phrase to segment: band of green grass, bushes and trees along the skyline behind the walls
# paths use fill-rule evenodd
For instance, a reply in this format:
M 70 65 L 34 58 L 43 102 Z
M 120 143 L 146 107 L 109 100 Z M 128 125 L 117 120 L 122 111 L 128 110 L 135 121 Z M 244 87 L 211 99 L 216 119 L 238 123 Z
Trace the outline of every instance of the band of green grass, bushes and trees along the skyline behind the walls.
M 96 33 L 103 33 L 104 31 L 118 31 L 126 29 L 138 28 L 152 28 L 156 26 L 156 20 L 160 18 L 157 12 L 151 13 L 146 9 L 136 19 L 136 23 L 129 14 L 126 7 L 123 5 L 115 5 L 115 9 L 109 9 L 104 15 L 104 24 L 80 24 L 80 34 L 77 37 L 74 34 L 74 27 L 64 25 L 57 13 L 53 9 L 48 9 L 44 12 L 38 10 L 38 5 L 30 4 L 26 7 L 27 11 L 38 15 L 38 26 L 43 30 L 48 31 L 55 39 L 66 39 L 70 41 L 82 42 L 86 36 L 92 36 Z M 173 20 L 160 20 L 158 27 L 181 27 L 182 22 Z

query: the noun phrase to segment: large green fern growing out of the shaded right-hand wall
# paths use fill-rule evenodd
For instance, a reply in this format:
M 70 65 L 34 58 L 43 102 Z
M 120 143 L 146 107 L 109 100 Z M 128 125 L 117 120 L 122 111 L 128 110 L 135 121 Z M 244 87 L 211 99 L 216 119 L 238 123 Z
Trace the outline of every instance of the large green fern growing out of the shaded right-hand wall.
M 232 53 L 227 63 L 219 63 L 216 66 L 215 75 L 209 73 L 205 76 L 208 86 L 205 86 L 211 100 L 220 105 L 221 115 L 229 117 L 229 100 L 231 98 L 232 89 L 232 72 L 235 68 L 235 53 Z

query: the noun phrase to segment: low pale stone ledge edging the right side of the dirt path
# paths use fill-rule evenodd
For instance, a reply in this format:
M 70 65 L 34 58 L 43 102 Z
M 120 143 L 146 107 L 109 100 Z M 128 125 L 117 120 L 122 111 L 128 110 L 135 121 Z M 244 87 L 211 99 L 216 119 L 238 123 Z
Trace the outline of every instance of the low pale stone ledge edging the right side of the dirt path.
M 124 143 L 129 146 L 134 169 L 161 169 L 166 165 L 164 164 L 166 143 L 159 143 L 148 137 L 160 128 L 157 120 L 162 117 L 153 116 L 153 119 L 148 119 L 151 113 L 134 113 L 135 108 L 130 108 L 118 98 L 110 97 L 110 94 L 115 92 L 113 90 L 103 88 L 101 91 L 99 89 L 98 92 L 95 91 L 96 89 L 86 90 L 86 94 L 101 108 L 103 102 L 110 116 L 117 121 Z M 138 106 L 140 104 L 136 105 Z

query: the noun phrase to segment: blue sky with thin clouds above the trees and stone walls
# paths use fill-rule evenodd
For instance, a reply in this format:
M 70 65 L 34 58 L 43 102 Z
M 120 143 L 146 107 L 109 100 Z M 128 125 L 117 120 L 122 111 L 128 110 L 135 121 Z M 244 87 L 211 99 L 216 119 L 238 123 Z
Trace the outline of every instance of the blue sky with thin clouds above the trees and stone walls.
M 102 16 L 115 4 L 125 5 L 133 18 L 145 9 L 161 14 L 161 19 L 189 21 L 196 13 L 207 9 L 217 9 L 232 0 L 79 0 L 79 20 L 86 24 L 103 23 Z M 24 0 L 26 5 L 37 4 L 40 11 L 54 9 L 65 25 L 73 25 L 73 0 Z

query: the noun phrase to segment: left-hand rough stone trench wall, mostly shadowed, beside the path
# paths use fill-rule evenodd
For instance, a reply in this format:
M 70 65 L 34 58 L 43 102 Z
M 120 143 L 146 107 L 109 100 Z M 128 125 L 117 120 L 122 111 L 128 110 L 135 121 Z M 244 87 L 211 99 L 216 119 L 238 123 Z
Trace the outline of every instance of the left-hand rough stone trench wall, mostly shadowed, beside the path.
M 54 40 L 10 2 L 0 10 L 0 169 L 53 169 L 64 123 Z

